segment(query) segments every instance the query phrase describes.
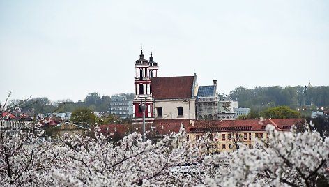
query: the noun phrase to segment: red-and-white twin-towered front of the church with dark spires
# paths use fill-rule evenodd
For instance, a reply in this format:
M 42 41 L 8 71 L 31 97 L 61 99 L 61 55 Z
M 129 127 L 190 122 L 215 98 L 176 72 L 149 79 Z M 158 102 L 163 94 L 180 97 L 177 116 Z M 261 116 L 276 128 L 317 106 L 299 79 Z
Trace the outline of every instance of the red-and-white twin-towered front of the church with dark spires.
M 153 98 L 151 92 L 151 78 L 158 77 L 158 63 L 153 61 L 152 52 L 150 61 L 144 58 L 143 50 L 139 59 L 135 61 L 135 98 L 132 100 L 133 114 L 135 119 L 141 119 L 143 113 L 139 110 L 139 105 L 146 105 L 146 119 L 153 118 Z

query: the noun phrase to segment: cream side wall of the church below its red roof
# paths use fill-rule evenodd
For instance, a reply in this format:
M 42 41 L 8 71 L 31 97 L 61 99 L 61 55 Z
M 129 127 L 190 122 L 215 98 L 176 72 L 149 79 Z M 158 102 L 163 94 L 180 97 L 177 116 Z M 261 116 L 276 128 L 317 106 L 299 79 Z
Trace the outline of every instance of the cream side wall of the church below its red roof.
M 155 100 L 156 119 L 195 119 L 195 99 Z M 157 109 L 162 107 L 162 117 L 158 117 Z M 178 117 L 178 107 L 183 107 L 183 117 Z

